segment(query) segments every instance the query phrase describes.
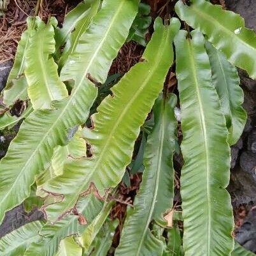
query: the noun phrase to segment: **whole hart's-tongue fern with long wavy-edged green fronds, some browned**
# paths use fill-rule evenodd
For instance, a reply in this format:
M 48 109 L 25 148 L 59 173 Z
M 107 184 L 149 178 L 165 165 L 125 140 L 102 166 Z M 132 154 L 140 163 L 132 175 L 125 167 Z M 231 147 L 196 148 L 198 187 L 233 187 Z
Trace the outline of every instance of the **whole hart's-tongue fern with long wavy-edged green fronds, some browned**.
M 0 162 L 0 220 L 23 202 L 26 210 L 38 206 L 45 220 L 0 239 L 1 255 L 253 255 L 234 243 L 225 188 L 230 146 L 246 122 L 235 66 L 255 78 L 255 33 L 221 6 L 179 0 L 178 18 L 155 19 L 141 61 L 90 115 L 125 41 L 146 42 L 150 18 L 141 17 L 138 7 L 139 0 L 83 1 L 61 29 L 55 18 L 47 24 L 28 18 L 1 94 L 0 129 L 23 122 Z M 148 15 L 142 7 L 142 16 Z M 177 95 L 165 83 L 170 68 Z M 11 115 L 17 101 L 25 106 L 19 117 Z M 182 216 L 173 206 L 177 102 Z M 144 122 L 150 117 L 148 131 Z M 134 203 L 119 223 L 110 213 L 141 129 L 147 131 L 145 146 L 135 162 L 143 161 L 145 169 Z M 117 227 L 120 241 L 111 246 Z

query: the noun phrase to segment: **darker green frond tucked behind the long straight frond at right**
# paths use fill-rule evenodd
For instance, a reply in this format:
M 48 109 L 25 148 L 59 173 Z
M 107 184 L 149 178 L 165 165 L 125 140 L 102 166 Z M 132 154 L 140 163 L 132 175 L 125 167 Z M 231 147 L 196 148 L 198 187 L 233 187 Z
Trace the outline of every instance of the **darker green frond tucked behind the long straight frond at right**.
M 225 55 L 206 41 L 213 85 L 217 90 L 229 130 L 229 145 L 234 145 L 240 138 L 246 123 L 246 111 L 243 104 L 243 90 L 239 87 L 238 71 Z

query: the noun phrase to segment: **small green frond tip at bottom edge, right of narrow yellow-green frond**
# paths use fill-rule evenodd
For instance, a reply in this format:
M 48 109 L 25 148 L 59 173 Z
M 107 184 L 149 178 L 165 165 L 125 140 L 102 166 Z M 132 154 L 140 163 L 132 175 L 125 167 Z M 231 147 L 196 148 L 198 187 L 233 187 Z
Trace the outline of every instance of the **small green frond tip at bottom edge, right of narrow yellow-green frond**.
M 90 256 L 106 256 L 108 255 L 108 250 L 112 245 L 113 236 L 115 234 L 115 229 L 117 228 L 118 220 L 110 220 L 106 222 L 103 226 L 94 243 L 91 246 L 92 252 L 88 255 Z M 87 254 L 85 254 L 87 255 Z

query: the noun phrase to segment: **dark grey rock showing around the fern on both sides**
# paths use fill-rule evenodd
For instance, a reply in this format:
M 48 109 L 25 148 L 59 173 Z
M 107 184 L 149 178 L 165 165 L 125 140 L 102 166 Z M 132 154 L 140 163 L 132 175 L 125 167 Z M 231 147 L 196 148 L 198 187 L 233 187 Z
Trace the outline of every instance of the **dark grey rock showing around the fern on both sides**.
M 227 10 L 235 11 L 245 18 L 245 25 L 256 31 L 256 0 L 225 0 Z M 0 92 L 3 89 L 12 62 L 0 64 Z M 232 173 L 229 192 L 234 207 L 239 204 L 256 204 L 256 81 L 239 71 L 241 86 L 245 92 L 244 107 L 248 113 L 248 122 L 241 139 L 232 147 Z M 1 134 L 0 134 L 1 135 Z M 4 154 L 4 150 L 1 153 Z M 22 206 L 6 213 L 0 227 L 0 237 L 27 222 L 42 218 L 42 213 L 33 211 L 24 212 Z M 251 210 L 244 224 L 236 231 L 237 241 L 248 250 L 256 252 L 256 210 Z

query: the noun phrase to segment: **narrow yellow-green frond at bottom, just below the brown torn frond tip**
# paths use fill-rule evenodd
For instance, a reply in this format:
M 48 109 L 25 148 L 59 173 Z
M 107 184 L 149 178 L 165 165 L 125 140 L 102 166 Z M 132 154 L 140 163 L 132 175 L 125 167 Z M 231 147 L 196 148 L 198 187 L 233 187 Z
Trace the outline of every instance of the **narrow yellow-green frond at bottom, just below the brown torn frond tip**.
M 97 215 L 97 217 L 93 220 L 93 222 L 85 229 L 79 241 L 83 247 L 83 252 L 87 253 L 89 251 L 90 245 L 96 238 L 97 234 L 101 230 L 110 214 L 111 208 L 113 206 L 113 201 L 109 203 L 105 203 L 103 210 Z

